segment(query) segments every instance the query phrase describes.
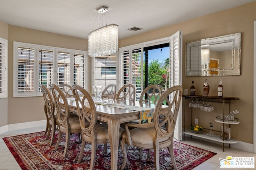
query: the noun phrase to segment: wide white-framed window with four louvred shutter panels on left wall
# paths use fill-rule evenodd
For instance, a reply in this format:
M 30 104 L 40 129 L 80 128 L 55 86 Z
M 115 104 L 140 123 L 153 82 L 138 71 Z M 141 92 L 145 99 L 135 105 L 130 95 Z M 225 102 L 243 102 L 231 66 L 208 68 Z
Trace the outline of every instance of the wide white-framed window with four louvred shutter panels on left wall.
M 14 97 L 42 96 L 40 85 L 87 88 L 86 51 L 14 42 Z

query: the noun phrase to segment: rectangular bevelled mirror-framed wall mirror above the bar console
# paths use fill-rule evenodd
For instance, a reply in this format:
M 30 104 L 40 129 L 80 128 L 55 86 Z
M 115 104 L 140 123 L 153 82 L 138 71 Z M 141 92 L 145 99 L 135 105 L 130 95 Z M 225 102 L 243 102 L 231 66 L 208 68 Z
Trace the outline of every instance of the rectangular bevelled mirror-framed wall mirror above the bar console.
M 241 33 L 186 43 L 185 76 L 235 76 L 241 68 Z

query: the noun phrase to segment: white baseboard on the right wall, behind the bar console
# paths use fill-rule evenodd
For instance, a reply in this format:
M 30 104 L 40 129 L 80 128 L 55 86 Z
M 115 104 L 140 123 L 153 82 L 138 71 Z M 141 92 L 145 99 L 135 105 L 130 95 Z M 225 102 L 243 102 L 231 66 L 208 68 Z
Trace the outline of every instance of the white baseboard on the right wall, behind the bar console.
M 185 136 L 190 137 L 190 135 L 185 135 Z M 207 142 L 211 142 L 211 143 L 216 143 L 216 144 L 222 145 L 222 143 L 216 142 L 216 141 L 212 141 L 212 140 L 207 140 L 207 139 L 203 139 L 203 138 L 199 138 L 199 137 L 195 137 L 195 136 L 193 136 L 193 138 L 200 139 L 202 141 L 207 141 Z M 225 144 L 225 146 L 228 147 L 229 145 Z M 231 144 L 230 147 L 234 148 L 234 149 L 238 149 L 238 150 L 243 150 L 245 152 L 253 153 L 253 144 L 251 144 L 251 143 L 246 143 L 246 142 L 238 141 L 235 144 Z

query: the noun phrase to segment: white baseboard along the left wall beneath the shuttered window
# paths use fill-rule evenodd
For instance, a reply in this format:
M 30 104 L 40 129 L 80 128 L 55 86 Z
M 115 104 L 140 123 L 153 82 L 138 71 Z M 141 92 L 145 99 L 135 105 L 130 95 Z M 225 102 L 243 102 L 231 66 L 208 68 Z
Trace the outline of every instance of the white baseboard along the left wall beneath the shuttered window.
M 46 126 L 46 120 L 30 121 L 30 122 L 24 122 L 24 123 L 15 123 L 10 125 L 5 125 L 0 127 L 0 134 L 7 131 L 15 131 L 15 130 L 39 127 L 39 126 Z

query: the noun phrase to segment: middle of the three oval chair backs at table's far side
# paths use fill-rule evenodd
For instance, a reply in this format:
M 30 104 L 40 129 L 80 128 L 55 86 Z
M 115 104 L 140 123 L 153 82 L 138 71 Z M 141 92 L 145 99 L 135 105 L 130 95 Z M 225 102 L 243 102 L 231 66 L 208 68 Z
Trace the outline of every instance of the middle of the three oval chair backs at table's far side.
M 134 102 L 136 96 L 136 90 L 134 85 L 126 84 L 120 88 L 116 95 L 116 100 L 128 100 L 129 102 Z

